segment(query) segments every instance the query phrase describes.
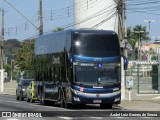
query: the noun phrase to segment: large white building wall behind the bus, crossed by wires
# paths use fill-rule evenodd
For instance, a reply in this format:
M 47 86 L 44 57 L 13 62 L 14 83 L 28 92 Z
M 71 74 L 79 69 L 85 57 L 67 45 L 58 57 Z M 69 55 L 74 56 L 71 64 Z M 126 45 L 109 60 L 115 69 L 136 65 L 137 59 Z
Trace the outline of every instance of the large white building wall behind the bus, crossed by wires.
M 74 0 L 74 27 L 113 30 L 118 33 L 116 6 L 114 0 Z

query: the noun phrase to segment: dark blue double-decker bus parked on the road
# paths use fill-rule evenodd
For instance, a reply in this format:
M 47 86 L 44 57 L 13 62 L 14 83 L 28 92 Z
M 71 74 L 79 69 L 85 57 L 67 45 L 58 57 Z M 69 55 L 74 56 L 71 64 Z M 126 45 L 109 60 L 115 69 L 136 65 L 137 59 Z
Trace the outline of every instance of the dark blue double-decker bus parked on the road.
M 121 57 L 114 31 L 79 29 L 39 36 L 35 41 L 35 80 L 40 103 L 52 101 L 66 108 L 120 104 Z

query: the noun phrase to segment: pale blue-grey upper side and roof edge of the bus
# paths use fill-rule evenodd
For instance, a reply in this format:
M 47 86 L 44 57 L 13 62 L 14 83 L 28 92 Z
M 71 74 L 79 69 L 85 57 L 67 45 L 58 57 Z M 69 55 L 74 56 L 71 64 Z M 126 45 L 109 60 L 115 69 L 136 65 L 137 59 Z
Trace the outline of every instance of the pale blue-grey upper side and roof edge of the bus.
M 64 49 L 71 49 L 71 38 L 73 33 L 113 34 L 111 30 L 90 30 L 90 29 L 69 29 L 60 32 L 53 32 L 40 35 L 35 41 L 35 55 L 63 52 Z M 56 44 L 55 44 L 56 43 Z

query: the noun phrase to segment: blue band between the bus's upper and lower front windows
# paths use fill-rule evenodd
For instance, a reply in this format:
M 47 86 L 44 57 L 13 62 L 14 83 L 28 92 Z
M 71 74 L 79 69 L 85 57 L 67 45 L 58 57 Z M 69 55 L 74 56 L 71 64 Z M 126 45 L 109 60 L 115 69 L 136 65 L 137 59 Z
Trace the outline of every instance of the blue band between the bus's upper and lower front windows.
M 114 57 L 86 57 L 86 56 L 79 56 L 73 55 L 74 61 L 85 61 L 85 62 L 120 62 L 120 56 Z

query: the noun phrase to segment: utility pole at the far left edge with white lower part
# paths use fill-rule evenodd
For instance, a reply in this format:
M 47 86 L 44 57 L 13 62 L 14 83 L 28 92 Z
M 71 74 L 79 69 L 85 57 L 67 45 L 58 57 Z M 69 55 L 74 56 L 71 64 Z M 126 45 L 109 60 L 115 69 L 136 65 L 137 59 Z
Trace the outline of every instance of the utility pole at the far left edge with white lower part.
M 4 62 L 4 10 L 1 9 L 2 12 L 2 31 L 1 31 L 1 44 L 0 44 L 0 61 L 1 61 L 1 74 L 0 74 L 0 92 L 4 90 L 4 69 L 3 69 L 3 62 Z

